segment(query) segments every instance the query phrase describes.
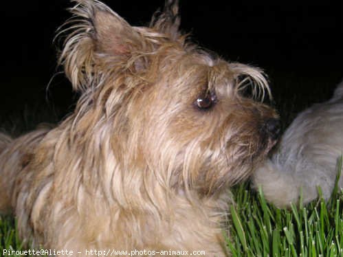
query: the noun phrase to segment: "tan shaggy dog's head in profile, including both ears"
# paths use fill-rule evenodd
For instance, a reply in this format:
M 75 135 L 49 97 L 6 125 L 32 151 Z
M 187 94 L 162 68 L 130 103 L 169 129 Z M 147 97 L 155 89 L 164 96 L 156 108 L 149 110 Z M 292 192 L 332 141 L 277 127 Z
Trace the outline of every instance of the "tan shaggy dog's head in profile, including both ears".
M 249 176 L 279 131 L 261 71 L 189 43 L 176 1 L 149 27 L 132 27 L 98 1 L 76 2 L 60 56 L 81 93 L 74 141 L 135 185 L 212 195 Z

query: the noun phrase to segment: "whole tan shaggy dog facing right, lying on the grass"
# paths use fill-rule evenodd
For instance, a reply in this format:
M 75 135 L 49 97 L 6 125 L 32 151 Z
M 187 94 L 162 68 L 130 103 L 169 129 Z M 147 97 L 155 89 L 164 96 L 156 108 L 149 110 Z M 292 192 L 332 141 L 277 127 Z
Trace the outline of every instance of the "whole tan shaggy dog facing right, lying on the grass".
M 78 0 L 71 12 L 60 63 L 80 99 L 54 129 L 1 135 L 1 210 L 14 212 L 23 239 L 78 256 L 230 255 L 229 188 L 279 131 L 261 101 L 261 71 L 189 43 L 175 1 L 149 27 L 131 27 L 98 1 Z

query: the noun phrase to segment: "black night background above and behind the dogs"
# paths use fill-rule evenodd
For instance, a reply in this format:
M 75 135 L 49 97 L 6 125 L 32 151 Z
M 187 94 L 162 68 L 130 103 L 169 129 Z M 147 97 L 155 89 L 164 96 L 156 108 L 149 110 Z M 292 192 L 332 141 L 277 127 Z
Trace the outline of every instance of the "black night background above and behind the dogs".
M 8 1 L 6 1 L 8 2 Z M 258 2 L 258 3 L 256 3 Z M 131 25 L 146 25 L 164 1 L 107 0 Z M 329 98 L 343 78 L 340 1 L 180 1 L 181 28 L 193 41 L 227 60 L 262 67 L 276 106 L 291 117 Z M 42 109 L 58 120 L 78 96 L 56 71 L 59 25 L 70 14 L 67 0 L 1 3 L 0 115 Z M 0 118 L 1 122 L 1 118 Z

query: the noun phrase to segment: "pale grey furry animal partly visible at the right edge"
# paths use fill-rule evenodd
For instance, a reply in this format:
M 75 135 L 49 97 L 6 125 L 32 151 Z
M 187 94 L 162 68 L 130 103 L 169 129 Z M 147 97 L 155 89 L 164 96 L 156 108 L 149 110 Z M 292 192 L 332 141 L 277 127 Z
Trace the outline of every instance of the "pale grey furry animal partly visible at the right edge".
M 343 82 L 333 98 L 300 113 L 285 131 L 272 159 L 254 173 L 267 200 L 280 207 L 318 197 L 318 186 L 328 199 L 335 185 L 338 158 L 343 150 Z M 343 176 L 338 186 L 343 188 Z

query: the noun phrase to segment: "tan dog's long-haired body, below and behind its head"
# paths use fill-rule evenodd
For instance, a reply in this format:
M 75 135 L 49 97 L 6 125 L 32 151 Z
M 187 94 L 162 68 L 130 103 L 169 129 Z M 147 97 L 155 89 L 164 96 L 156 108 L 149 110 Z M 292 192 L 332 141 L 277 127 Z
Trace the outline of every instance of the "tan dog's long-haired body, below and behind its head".
M 10 206 L 12 199 L 24 239 L 33 239 L 34 245 L 43 244 L 45 249 L 82 251 L 82 254 L 85 249 L 156 252 L 186 249 L 206 251 L 206 256 L 225 256 L 219 224 L 228 210 L 229 192 L 216 197 L 216 201 L 198 199 L 199 202 L 190 205 L 183 194 L 165 192 L 158 183 L 154 183 L 154 188 L 146 188 L 151 191 L 151 196 L 146 196 L 151 199 L 147 200 L 140 195 L 138 181 L 113 181 L 116 178 L 109 176 L 114 174 L 104 174 L 104 178 L 74 175 L 70 167 L 77 164 L 71 162 L 80 160 L 67 156 L 73 153 L 65 148 L 67 142 L 61 135 L 65 128 L 62 128 L 39 129 L 23 135 L 8 142 L 8 148 L 0 155 L 1 176 L 6 178 L 0 180 L 0 206 Z M 34 156 L 30 156 L 32 149 Z M 56 172 L 57 167 L 65 172 Z M 85 172 L 80 168 L 76 171 Z M 131 180 L 142 174 L 127 176 Z M 131 186 L 126 188 L 128 192 L 121 182 Z M 114 192 L 105 190 L 118 192 L 110 196 Z M 109 194 L 109 199 L 105 194 Z

